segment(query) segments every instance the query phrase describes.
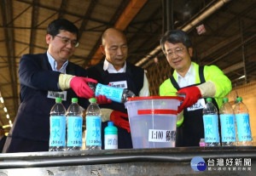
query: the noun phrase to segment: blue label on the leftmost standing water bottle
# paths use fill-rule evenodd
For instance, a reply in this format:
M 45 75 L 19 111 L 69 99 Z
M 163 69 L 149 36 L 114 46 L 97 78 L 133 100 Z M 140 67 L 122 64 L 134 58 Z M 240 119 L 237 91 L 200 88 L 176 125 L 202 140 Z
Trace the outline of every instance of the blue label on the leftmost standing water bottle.
M 66 116 L 50 116 L 49 146 L 66 146 Z

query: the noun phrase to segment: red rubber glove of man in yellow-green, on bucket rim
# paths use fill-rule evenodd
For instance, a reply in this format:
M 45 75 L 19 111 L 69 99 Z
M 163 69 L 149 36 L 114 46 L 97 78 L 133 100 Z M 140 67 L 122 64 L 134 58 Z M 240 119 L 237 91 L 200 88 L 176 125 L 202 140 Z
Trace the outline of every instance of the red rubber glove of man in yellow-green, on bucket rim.
M 184 108 L 194 105 L 201 98 L 201 91 L 196 86 L 182 88 L 177 91 L 177 94 L 186 94 L 183 104 L 177 108 L 177 113 L 183 111 Z

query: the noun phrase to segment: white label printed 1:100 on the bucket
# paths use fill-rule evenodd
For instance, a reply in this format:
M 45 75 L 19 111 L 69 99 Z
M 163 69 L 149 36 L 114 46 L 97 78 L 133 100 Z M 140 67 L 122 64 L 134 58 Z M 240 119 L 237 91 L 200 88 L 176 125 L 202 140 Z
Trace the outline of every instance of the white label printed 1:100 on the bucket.
M 176 132 L 171 130 L 149 129 L 149 142 L 174 142 L 176 139 Z

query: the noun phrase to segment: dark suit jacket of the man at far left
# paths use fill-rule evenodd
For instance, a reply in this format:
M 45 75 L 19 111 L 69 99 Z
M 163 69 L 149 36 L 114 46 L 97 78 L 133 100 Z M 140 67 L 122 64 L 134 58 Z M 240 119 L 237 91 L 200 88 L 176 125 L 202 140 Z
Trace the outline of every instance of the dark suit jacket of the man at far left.
M 67 74 L 87 77 L 87 71 L 71 62 Z M 9 136 L 49 142 L 49 111 L 55 99 L 47 98 L 48 91 L 61 91 L 57 82 L 60 72 L 52 71 L 47 54 L 25 54 L 20 59 L 20 107 Z M 68 108 L 71 99 L 77 97 L 71 88 L 67 89 L 67 101 L 62 104 Z M 79 105 L 86 108 L 88 99 L 79 99 Z M 17 146 L 19 147 L 19 146 Z

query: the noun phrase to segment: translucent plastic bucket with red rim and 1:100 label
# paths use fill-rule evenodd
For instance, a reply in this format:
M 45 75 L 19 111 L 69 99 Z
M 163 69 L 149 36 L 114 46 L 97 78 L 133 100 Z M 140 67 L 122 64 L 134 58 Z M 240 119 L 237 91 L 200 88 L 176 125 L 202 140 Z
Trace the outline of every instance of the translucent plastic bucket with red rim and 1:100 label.
M 134 149 L 175 147 L 177 107 L 183 97 L 129 98 L 128 110 Z

